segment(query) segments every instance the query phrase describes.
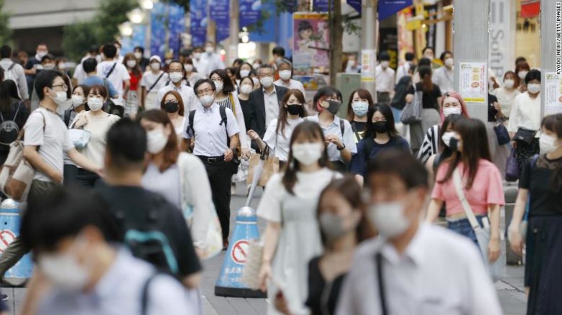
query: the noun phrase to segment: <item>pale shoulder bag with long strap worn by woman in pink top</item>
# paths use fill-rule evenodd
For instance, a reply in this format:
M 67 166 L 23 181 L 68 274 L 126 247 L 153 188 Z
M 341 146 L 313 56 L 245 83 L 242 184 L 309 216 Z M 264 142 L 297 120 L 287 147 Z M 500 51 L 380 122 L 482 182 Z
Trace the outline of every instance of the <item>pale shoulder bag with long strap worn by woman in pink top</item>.
M 455 169 L 453 172 L 453 184 L 455 186 L 455 190 L 457 193 L 457 197 L 459 197 L 460 203 L 463 206 L 464 213 L 466 214 L 466 218 L 470 222 L 470 226 L 474 230 L 474 234 L 476 234 L 476 239 L 478 240 L 478 246 L 480 248 L 480 253 L 482 254 L 482 258 L 484 258 L 484 263 L 488 266 L 488 273 L 492 278 L 492 281 L 496 282 L 501 280 L 505 277 L 505 253 L 503 252 L 502 246 L 500 246 L 500 257 L 497 258 L 495 262 L 488 261 L 488 243 L 490 243 L 490 221 L 488 221 L 488 217 L 482 220 L 483 227 L 480 226 L 474 212 L 472 212 L 472 208 L 466 200 L 463 191 L 463 184 L 460 176 L 460 172 L 458 169 Z

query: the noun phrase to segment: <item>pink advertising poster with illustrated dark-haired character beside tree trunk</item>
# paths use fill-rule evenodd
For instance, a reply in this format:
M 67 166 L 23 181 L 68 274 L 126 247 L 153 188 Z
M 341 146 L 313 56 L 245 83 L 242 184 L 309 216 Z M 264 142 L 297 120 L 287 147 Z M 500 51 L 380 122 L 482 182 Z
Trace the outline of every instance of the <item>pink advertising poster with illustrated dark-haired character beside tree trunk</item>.
M 293 67 L 328 67 L 329 30 L 326 13 L 293 13 Z

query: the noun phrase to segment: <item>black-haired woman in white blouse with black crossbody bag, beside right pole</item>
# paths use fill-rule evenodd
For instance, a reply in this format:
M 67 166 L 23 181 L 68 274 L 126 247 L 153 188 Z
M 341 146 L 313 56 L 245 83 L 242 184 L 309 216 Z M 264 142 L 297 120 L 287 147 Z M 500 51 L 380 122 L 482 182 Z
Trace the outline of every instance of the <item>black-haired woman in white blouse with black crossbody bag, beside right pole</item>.
M 539 152 L 538 130 L 541 129 L 541 71 L 533 69 L 525 76 L 527 92 L 515 97 L 507 131 L 513 141 L 519 175 L 527 160 Z

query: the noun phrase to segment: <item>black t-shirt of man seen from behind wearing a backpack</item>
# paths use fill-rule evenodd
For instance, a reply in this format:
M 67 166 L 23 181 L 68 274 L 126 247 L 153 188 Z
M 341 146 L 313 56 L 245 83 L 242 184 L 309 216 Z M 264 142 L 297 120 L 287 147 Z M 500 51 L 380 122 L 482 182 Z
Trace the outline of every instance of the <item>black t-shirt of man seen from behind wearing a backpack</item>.
M 178 261 L 180 279 L 201 271 L 201 264 L 193 247 L 191 234 L 182 212 L 173 204 L 167 202 L 161 195 L 135 186 L 109 186 L 102 184 L 99 193 L 110 204 L 112 211 L 124 213 L 121 226 L 123 235 L 128 222 L 144 222 L 151 205 L 158 204 L 161 221 L 164 222 L 164 232 L 175 258 Z

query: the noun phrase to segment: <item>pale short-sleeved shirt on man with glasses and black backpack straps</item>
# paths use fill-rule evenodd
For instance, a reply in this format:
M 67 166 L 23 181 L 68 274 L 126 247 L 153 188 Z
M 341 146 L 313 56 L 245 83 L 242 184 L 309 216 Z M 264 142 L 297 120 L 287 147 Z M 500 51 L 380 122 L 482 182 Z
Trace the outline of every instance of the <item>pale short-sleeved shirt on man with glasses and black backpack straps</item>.
M 189 119 L 185 120 L 185 126 L 183 128 L 184 138 L 191 139 L 193 136 L 196 137 L 193 154 L 205 157 L 222 156 L 226 149 L 228 149 L 226 145 L 226 141 L 228 141 L 226 134 L 228 133 L 228 137 L 231 137 L 240 133 L 236 117 L 234 117 L 230 108 L 225 108 L 225 110 L 226 130 L 224 124 L 220 124 L 220 110 L 219 105 L 216 103 L 213 103 L 209 108 L 205 108 L 200 104 L 197 108 L 193 116 L 195 135 L 193 135 L 193 130 L 189 125 Z

